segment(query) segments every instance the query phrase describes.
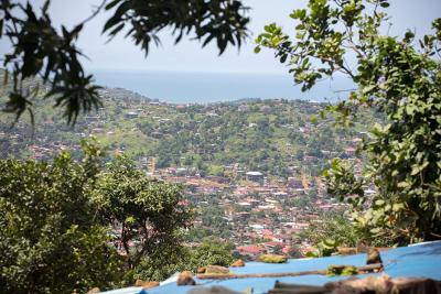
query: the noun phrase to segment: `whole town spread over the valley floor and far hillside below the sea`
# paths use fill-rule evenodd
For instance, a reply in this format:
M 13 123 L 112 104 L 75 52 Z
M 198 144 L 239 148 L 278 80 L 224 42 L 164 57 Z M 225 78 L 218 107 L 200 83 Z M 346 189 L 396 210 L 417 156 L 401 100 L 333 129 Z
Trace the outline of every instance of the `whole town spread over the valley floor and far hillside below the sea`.
M 110 154 L 127 154 L 148 175 L 185 187 L 196 211 L 187 246 L 216 236 L 237 254 L 302 257 L 312 244 L 302 232 L 326 213 L 346 204 L 331 198 L 321 171 L 333 157 L 347 159 L 361 173 L 357 146 L 368 139 L 364 126 L 334 127 L 319 117 L 325 104 L 246 99 L 213 105 L 172 105 L 121 88 L 101 90 L 105 107 L 80 117 L 74 128 L 56 119 L 51 106 L 29 122 L 0 123 L 1 156 L 51 160 L 79 140 L 94 137 Z M 373 186 L 365 194 L 375 193 Z

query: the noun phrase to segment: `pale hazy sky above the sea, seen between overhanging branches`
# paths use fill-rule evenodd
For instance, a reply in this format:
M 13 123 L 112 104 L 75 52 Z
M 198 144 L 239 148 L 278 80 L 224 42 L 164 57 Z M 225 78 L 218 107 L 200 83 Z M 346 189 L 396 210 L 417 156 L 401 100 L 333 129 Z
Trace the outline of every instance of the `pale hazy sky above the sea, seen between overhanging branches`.
M 73 25 L 87 18 L 93 7 L 101 0 L 52 0 L 50 12 L 54 23 Z M 33 0 L 42 4 L 42 0 Z M 287 32 L 292 30 L 293 21 L 288 14 L 295 8 L 303 7 L 305 0 L 244 0 L 251 8 L 250 30 L 258 34 L 265 24 L 277 21 Z M 395 28 L 391 34 L 404 32 L 406 28 L 416 29 L 418 33 L 426 33 L 431 21 L 441 17 L 441 0 L 392 0 L 389 13 Z M 100 14 L 85 26 L 80 34 L 78 46 L 90 58 L 85 66 L 90 70 L 193 70 L 193 72 L 223 72 L 223 73 L 286 73 L 286 68 L 272 56 L 272 53 L 262 51 L 255 54 L 254 37 L 241 47 L 227 50 L 218 57 L 215 45 L 204 50 L 197 41 L 184 40 L 174 46 L 169 32 L 162 34 L 162 46 L 151 47 L 150 54 L 144 54 L 136 47 L 129 39 L 116 37 L 106 44 L 106 36 L 101 35 L 101 28 L 108 15 Z M 8 51 L 4 41 L 0 42 L 0 53 Z

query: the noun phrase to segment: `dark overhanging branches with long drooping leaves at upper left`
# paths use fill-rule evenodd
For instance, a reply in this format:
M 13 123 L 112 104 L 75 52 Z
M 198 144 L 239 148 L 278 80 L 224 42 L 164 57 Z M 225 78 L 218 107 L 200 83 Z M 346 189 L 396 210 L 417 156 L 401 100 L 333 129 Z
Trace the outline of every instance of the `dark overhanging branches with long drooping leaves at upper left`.
M 130 36 L 146 55 L 152 42 L 160 44 L 158 34 L 164 29 L 173 29 L 175 43 L 190 33 L 203 42 L 202 46 L 215 41 L 222 54 L 228 44 L 240 47 L 249 22 L 244 15 L 247 8 L 238 0 L 104 0 L 89 18 L 72 30 L 63 25 L 58 31 L 52 25 L 49 7 L 47 0 L 39 14 L 30 1 L 26 4 L 18 0 L 0 2 L 0 39 L 8 39 L 12 45 L 12 52 L 3 61 L 12 76 L 4 111 L 14 113 L 17 119 L 25 110 L 33 119 L 32 99 L 39 94 L 39 87 L 23 87 L 23 81 L 34 76 L 50 86 L 45 98 L 54 98 L 55 106 L 64 108 L 67 122 L 75 123 L 79 111 L 100 105 L 99 87 L 85 73 L 79 62 L 83 53 L 75 43 L 83 26 L 103 10 L 112 12 L 103 33 L 111 40 L 126 29 L 126 37 Z

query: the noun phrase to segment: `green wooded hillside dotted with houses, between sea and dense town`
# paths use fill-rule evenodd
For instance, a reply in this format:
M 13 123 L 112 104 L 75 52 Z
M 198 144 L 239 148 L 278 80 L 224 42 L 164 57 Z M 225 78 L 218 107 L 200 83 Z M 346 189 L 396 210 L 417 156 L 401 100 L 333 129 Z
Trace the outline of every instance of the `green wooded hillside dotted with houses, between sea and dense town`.
M 311 116 L 327 105 L 301 100 L 168 106 L 117 92 L 106 89 L 104 108 L 79 117 L 72 128 L 57 120 L 57 110 L 50 105 L 37 105 L 34 130 L 19 122 L 13 129 L 19 138 L 2 140 L 0 156 L 25 159 L 32 155 L 32 144 L 77 149 L 82 137 L 94 134 L 109 151 L 123 151 L 140 164 L 154 161 L 157 168 L 183 167 L 202 176 L 223 176 L 229 173 L 228 166 L 237 164 L 238 170 L 286 181 L 298 173 L 319 175 L 333 155 L 348 157 L 345 148 L 357 146 L 352 140 L 366 138 L 365 126 L 381 121 L 365 111 L 353 129 L 335 127 L 332 119 L 313 123 Z M 136 117 L 128 119 L 132 112 Z M 0 118 L 0 131 L 11 133 L 11 117 Z

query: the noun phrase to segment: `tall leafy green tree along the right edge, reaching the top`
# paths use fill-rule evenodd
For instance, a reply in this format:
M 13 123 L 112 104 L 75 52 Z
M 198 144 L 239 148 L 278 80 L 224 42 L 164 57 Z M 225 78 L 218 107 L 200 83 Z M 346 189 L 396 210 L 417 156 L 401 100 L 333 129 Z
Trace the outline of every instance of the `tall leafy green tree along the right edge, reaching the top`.
M 366 236 L 398 243 L 439 239 L 441 19 L 418 42 L 410 31 L 400 39 L 384 35 L 388 7 L 387 0 L 309 0 L 290 14 L 298 21 L 293 39 L 272 23 L 257 37 L 256 52 L 273 50 L 302 90 L 336 74 L 351 78 L 357 89 L 330 106 L 340 122 L 349 124 L 362 107 L 387 117 L 363 145 L 369 156 L 365 176 L 337 160 L 324 173 L 329 193 L 353 205 Z M 363 192 L 370 183 L 377 187 L 372 199 Z

